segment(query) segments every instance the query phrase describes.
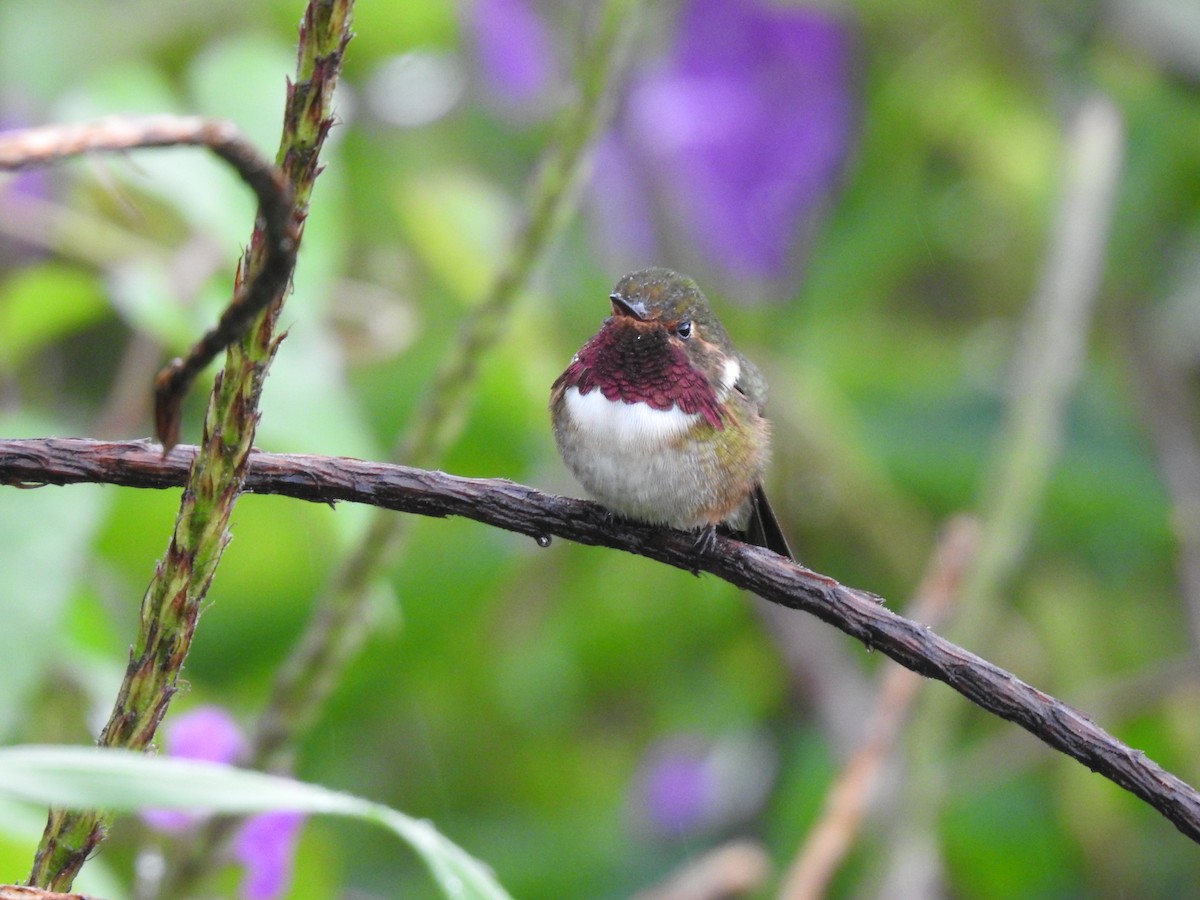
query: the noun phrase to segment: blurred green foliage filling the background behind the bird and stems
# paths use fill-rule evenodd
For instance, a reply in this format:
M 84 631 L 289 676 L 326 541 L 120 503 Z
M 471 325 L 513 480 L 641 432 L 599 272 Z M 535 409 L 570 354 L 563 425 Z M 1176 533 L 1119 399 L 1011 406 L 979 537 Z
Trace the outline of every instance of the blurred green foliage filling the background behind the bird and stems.
M 854 114 L 811 240 L 770 277 L 692 271 L 772 383 L 769 492 L 793 546 L 900 610 L 942 523 L 979 508 L 1068 125 L 1106 96 L 1123 163 L 1087 356 L 1019 572 L 988 599 L 990 628 L 970 649 L 1200 782 L 1200 484 L 1180 462 L 1200 458 L 1193 0 L 824 7 L 852 38 Z M 296 0 L 2 0 L 0 122 L 202 113 L 274 152 L 300 12 Z M 470 12 L 444 0 L 355 12 L 263 397 L 264 449 L 385 458 L 505 259 L 586 17 L 544 5 L 557 88 L 514 104 L 488 89 Z M 668 44 L 673 16 L 655 7 L 638 60 Z M 445 470 L 578 492 L 554 452 L 551 382 L 629 263 L 697 256 L 629 259 L 584 206 L 479 360 Z M 193 150 L 0 176 L 0 433 L 149 433 L 152 376 L 227 302 L 252 216 L 236 180 Z M 0 492 L 0 739 L 95 733 L 178 503 L 97 486 Z M 365 522 L 348 506 L 242 498 L 172 714 L 215 703 L 248 725 Z M 295 769 L 431 818 L 517 898 L 629 896 L 736 835 L 784 870 L 862 738 L 882 662 L 816 620 L 784 629 L 714 578 L 462 521 L 413 522 L 374 598 L 371 637 Z M 935 695 L 949 718 L 928 718 Z M 905 766 L 929 721 L 938 757 Z M 6 814 L 0 881 L 24 877 L 40 827 Z M 85 874 L 128 883 L 144 839 L 120 822 Z M 294 898 L 434 895 L 415 858 L 359 826 L 311 822 L 298 860 Z M 1157 812 L 936 684 L 833 892 L 896 896 L 905 862 L 934 880 L 910 888 L 972 898 L 1180 896 L 1200 880 L 1195 846 Z

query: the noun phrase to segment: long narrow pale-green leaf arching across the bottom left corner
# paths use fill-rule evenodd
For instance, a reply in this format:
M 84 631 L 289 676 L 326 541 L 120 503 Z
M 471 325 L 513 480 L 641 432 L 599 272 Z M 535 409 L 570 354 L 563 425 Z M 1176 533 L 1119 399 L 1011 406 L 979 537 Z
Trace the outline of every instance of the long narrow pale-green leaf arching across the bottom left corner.
M 289 810 L 360 818 L 406 840 L 446 896 L 509 896 L 482 863 L 428 822 L 319 785 L 232 766 L 103 748 L 0 748 L 0 794 L 53 806 L 121 812 L 154 806 L 228 814 Z

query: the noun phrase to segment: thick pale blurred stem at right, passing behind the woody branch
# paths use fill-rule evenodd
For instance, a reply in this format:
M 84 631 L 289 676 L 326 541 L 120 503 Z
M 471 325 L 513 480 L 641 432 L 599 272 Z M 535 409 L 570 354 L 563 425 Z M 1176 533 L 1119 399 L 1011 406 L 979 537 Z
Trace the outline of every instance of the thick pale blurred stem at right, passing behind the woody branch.
M 1013 356 L 1007 419 L 983 482 L 979 546 L 948 635 L 985 654 L 989 634 L 1003 620 L 1001 594 L 1020 566 L 1063 443 L 1104 268 L 1122 131 L 1118 112 L 1102 96 L 1086 98 L 1067 130 L 1057 221 Z M 913 720 L 898 804 L 905 815 L 894 823 L 881 896 L 942 893 L 937 820 L 964 713 L 953 694 L 935 690 Z

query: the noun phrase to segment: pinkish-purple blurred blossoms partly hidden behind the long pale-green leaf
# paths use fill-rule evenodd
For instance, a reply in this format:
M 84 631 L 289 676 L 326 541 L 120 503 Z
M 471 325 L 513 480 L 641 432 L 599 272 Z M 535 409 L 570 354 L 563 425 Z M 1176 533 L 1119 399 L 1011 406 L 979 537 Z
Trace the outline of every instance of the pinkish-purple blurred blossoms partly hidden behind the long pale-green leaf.
M 163 737 L 167 755 L 205 762 L 236 762 L 246 740 L 233 718 L 220 707 L 199 707 L 172 721 Z M 186 830 L 203 818 L 182 810 L 145 810 L 143 821 L 170 834 Z M 234 840 L 234 858 L 245 866 L 241 896 L 274 900 L 292 881 L 292 864 L 304 816 L 299 812 L 264 812 L 247 818 Z

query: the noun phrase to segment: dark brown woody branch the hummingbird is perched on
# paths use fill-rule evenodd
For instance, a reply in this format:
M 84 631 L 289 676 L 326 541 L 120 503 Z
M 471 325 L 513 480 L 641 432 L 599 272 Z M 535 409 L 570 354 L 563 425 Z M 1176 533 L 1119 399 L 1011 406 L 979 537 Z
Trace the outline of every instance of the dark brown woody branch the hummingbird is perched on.
M 194 454 L 194 448 L 176 448 L 164 458 L 142 442 L 0 440 L 0 484 L 175 487 L 184 484 Z M 456 478 L 361 460 L 252 451 L 245 490 L 314 503 L 366 503 L 422 516 L 463 516 L 540 544 L 556 535 L 712 572 L 766 600 L 809 612 L 906 668 L 948 684 L 1141 798 L 1200 842 L 1200 793 L 1144 752 L 1013 673 L 889 611 L 874 594 L 760 547 L 718 536 L 700 551 L 691 534 L 614 522 L 594 503 L 553 497 L 504 479 Z

